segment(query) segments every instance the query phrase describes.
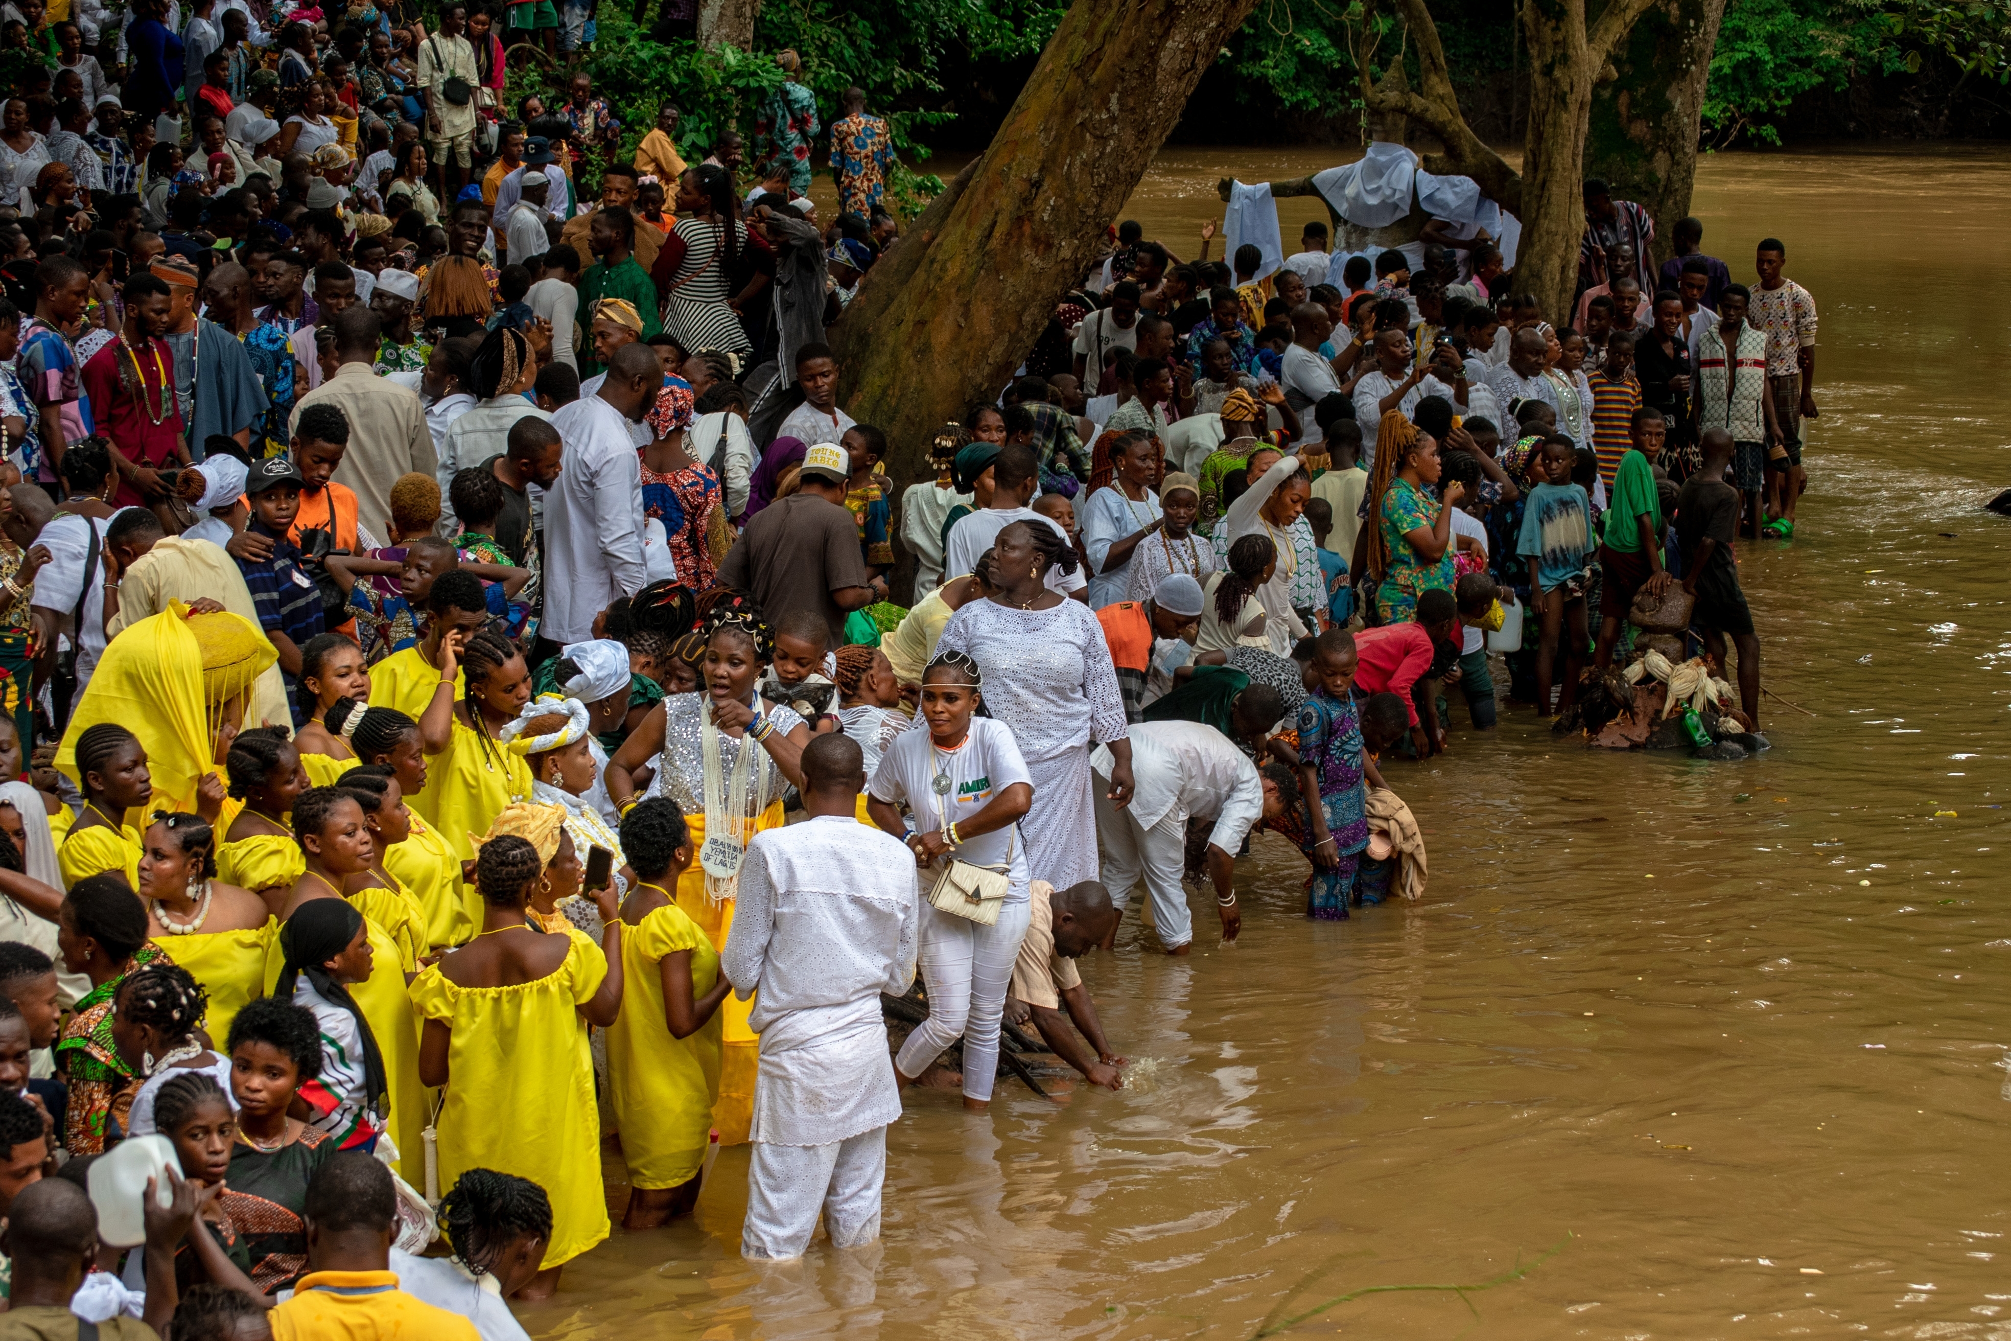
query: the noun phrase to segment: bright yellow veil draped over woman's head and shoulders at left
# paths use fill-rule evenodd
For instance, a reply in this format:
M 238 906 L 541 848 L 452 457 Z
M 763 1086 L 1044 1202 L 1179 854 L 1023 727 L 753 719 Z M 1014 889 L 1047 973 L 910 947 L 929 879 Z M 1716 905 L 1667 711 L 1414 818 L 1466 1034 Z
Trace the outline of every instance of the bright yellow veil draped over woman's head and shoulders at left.
M 280 659 L 255 623 L 229 611 L 189 615 L 181 601 L 119 633 L 99 659 L 56 746 L 56 768 L 76 782 L 76 738 L 117 722 L 147 750 L 159 810 L 195 810 L 195 784 L 215 770 L 217 718 Z

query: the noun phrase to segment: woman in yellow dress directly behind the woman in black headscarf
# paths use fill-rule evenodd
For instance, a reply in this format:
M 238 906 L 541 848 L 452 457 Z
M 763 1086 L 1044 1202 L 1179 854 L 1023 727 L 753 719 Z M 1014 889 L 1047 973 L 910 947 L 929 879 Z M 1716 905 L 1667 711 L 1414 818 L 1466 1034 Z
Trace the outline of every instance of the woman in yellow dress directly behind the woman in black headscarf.
M 294 800 L 294 834 L 300 838 L 302 877 L 288 895 L 280 921 L 314 899 L 346 899 L 370 929 L 370 977 L 350 995 L 370 1021 L 390 1088 L 386 1134 L 398 1146 L 398 1172 L 412 1186 L 426 1180 L 426 1152 L 418 1134 L 426 1126 L 426 1090 L 418 1082 L 418 1015 L 408 987 L 424 953 L 426 927 L 404 891 L 384 889 L 372 875 L 376 842 L 364 822 L 362 802 L 338 786 L 308 788 Z M 278 949 L 278 941 L 276 941 Z M 280 981 L 284 955 L 265 959 L 267 989 Z

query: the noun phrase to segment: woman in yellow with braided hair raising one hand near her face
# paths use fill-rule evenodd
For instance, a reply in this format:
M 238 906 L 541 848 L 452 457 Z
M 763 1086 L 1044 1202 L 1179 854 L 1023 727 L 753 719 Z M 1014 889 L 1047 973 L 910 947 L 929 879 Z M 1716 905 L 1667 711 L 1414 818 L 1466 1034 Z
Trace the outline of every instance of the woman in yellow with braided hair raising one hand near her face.
M 440 639 L 440 684 L 467 682 L 459 702 L 434 694 L 418 720 L 426 748 L 426 786 L 406 804 L 438 828 L 461 860 L 475 858 L 479 834 L 513 800 L 529 800 L 531 770 L 523 756 L 497 744 L 497 732 L 531 698 L 531 672 L 517 647 L 493 629 Z

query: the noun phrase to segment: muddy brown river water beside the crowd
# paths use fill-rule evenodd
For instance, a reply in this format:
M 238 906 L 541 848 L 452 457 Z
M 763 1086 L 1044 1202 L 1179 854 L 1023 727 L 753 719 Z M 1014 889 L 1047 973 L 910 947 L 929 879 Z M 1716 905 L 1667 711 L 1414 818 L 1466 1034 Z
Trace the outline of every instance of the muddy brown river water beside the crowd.
M 1193 255 L 1219 175 L 1325 165 L 1168 151 L 1126 215 Z M 1979 509 L 2011 167 L 1717 155 L 1695 211 L 1742 281 L 1784 237 L 1822 310 L 1802 531 L 1740 547 L 1766 684 L 1814 716 L 1766 700 L 1744 764 L 1456 730 L 1388 774 L 1420 905 L 1309 925 L 1263 836 L 1235 947 L 1197 891 L 1191 959 L 1126 923 L 1084 961 L 1148 1086 L 911 1096 L 859 1257 L 740 1261 L 728 1150 L 533 1335 L 2011 1337 L 2011 521 Z

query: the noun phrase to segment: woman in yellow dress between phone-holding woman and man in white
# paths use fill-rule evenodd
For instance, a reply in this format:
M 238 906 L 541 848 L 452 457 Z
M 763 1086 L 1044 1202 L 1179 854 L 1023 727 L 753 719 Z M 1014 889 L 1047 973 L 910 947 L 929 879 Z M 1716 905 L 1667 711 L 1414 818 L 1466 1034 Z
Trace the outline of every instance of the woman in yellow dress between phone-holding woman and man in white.
M 621 903 L 625 987 L 607 1029 L 607 1098 L 621 1130 L 629 1204 L 621 1228 L 656 1228 L 698 1204 L 720 1096 L 720 953 L 672 897 L 692 830 L 662 796 L 621 816 L 635 887 Z

